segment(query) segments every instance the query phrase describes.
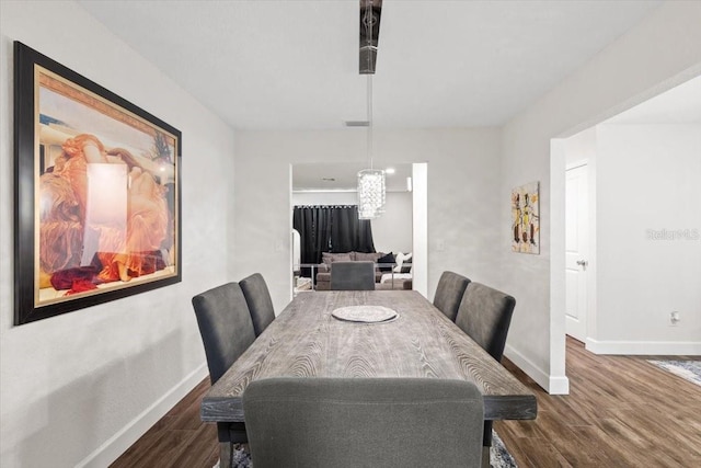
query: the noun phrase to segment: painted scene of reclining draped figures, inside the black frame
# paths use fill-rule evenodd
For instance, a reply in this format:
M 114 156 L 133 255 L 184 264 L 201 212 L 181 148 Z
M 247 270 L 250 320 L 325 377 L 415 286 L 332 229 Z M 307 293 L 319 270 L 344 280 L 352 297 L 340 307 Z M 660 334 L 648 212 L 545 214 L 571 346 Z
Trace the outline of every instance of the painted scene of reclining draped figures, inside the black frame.
M 41 82 L 39 298 L 168 274 L 173 138 L 54 77 Z

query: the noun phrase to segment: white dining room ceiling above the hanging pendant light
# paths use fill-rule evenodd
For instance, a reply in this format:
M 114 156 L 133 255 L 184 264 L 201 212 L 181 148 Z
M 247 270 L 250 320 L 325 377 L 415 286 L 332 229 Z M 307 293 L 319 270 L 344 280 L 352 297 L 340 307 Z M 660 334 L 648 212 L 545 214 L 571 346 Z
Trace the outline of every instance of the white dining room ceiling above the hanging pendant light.
M 357 0 L 79 3 L 235 129 L 367 117 Z M 375 126 L 504 124 L 660 3 L 384 0 Z

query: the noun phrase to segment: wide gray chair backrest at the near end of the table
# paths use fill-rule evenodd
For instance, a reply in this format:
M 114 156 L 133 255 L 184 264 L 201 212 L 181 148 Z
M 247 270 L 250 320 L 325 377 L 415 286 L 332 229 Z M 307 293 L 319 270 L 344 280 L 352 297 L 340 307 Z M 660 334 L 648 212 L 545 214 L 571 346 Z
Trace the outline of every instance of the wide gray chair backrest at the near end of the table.
M 469 381 L 261 379 L 243 412 L 255 468 L 480 466 L 484 403 Z

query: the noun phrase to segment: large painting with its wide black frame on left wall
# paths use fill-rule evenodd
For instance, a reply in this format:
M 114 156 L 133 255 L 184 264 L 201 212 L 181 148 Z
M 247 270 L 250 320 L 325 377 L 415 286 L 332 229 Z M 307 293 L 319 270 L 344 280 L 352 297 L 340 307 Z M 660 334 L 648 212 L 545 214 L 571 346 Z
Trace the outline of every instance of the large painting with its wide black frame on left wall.
M 181 133 L 19 42 L 14 87 L 15 324 L 180 282 Z

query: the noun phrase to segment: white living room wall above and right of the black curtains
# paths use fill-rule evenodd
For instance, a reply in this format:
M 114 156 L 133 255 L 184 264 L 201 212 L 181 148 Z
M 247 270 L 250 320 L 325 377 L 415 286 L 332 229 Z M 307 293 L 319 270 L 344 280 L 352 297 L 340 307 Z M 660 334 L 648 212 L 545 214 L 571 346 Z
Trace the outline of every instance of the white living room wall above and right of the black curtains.
M 357 205 L 355 192 L 296 192 L 292 205 Z M 384 213 L 370 221 L 378 252 L 412 251 L 412 194 L 387 192 Z

